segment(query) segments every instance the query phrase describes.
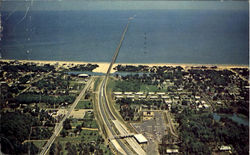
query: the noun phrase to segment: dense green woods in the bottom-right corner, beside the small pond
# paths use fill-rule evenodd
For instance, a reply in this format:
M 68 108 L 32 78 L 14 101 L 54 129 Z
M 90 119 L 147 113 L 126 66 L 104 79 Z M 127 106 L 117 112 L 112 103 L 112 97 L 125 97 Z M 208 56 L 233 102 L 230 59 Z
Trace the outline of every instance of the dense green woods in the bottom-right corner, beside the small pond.
M 179 123 L 180 149 L 189 154 L 211 154 L 217 145 L 231 145 L 238 154 L 247 154 L 249 149 L 248 127 L 238 125 L 231 119 L 217 122 L 211 113 L 198 113 L 185 108 L 176 117 Z

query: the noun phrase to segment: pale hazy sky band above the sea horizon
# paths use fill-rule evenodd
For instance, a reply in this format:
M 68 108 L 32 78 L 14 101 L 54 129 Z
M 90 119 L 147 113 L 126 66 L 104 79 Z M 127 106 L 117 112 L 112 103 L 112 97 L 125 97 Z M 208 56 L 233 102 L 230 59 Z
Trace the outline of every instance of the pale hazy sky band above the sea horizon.
M 26 4 L 25 4 L 26 3 Z M 30 2 L 4 1 L 1 10 L 26 10 Z M 34 10 L 147 10 L 209 9 L 248 10 L 248 2 L 237 1 L 39 1 Z

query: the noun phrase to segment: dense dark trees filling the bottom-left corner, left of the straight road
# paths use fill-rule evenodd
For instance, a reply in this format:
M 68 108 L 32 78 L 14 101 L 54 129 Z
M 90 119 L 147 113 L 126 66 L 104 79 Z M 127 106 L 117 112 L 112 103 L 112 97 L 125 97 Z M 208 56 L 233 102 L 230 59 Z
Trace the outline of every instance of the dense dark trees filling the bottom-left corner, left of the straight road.
M 29 139 L 32 126 L 39 126 L 40 121 L 30 114 L 17 112 L 1 113 L 1 151 L 6 154 L 24 154 L 28 152 L 28 143 L 22 144 Z M 32 136 L 39 137 L 43 133 L 33 133 Z M 46 137 L 48 138 L 48 137 Z M 38 153 L 38 148 L 31 143 L 32 154 Z

